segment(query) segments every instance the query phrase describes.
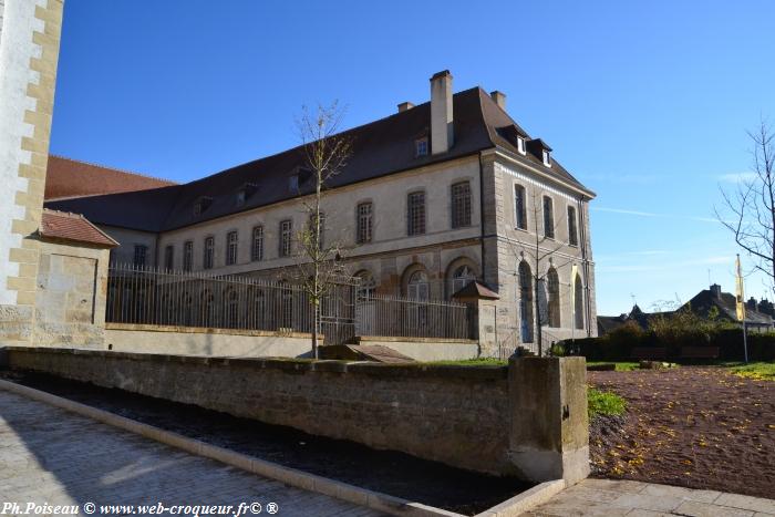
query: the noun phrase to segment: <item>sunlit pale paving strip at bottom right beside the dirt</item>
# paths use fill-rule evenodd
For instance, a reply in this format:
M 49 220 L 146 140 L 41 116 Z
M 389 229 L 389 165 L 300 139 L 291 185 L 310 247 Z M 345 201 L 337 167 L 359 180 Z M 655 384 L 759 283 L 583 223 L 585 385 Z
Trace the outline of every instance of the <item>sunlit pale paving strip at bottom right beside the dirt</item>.
M 585 479 L 525 516 L 771 517 L 775 500 L 668 485 Z

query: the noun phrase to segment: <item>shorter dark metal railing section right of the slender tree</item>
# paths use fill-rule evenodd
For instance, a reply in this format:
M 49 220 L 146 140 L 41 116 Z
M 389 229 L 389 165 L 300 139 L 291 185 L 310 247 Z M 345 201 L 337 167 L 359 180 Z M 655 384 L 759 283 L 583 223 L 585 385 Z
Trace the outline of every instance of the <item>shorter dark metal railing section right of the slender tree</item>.
M 355 304 L 358 335 L 475 339 L 474 309 L 445 300 L 371 296 Z

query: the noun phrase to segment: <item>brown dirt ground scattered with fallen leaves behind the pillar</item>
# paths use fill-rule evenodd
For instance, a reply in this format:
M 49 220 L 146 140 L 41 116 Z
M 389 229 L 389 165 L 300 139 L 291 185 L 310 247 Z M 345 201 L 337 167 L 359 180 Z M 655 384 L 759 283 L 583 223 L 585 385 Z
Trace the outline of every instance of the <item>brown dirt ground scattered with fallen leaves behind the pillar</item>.
M 592 422 L 593 476 L 775 498 L 775 382 L 709 366 L 588 380 L 628 401 Z

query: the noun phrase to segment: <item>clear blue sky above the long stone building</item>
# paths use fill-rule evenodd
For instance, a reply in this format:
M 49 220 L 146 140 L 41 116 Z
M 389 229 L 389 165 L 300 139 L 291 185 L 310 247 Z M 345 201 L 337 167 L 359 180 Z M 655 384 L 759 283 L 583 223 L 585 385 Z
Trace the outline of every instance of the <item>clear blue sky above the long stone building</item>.
M 745 131 L 775 121 L 773 19 L 768 0 L 68 0 L 51 151 L 185 182 L 298 144 L 303 104 L 360 125 L 450 69 L 598 194 L 599 313 L 647 309 L 709 275 L 733 288 L 713 206 L 751 169 Z

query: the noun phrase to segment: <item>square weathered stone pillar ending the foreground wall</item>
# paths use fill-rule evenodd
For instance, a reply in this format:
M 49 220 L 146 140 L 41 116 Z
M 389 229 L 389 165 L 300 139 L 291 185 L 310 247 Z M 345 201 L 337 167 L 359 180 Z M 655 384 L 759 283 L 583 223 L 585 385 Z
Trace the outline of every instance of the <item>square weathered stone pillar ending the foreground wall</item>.
M 577 483 L 589 475 L 583 358 L 513 358 L 509 458 L 528 480 Z

